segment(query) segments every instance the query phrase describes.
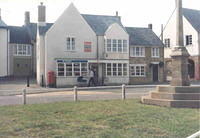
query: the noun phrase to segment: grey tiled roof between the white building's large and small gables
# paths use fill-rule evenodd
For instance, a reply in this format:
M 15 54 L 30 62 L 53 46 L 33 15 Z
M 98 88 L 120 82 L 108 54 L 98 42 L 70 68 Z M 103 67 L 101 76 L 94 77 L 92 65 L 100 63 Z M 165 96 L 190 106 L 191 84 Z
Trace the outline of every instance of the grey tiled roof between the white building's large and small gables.
M 120 17 L 117 16 L 88 14 L 82 14 L 82 16 L 97 35 L 104 35 L 108 27 L 113 23 L 118 23 L 120 26 L 123 27 Z

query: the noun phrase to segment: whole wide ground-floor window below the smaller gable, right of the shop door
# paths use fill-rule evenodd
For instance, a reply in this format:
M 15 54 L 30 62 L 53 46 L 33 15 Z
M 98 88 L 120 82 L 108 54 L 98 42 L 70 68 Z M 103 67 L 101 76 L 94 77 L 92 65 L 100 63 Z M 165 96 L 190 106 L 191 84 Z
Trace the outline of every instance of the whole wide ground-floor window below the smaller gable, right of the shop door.
M 127 63 L 107 63 L 106 76 L 127 76 Z

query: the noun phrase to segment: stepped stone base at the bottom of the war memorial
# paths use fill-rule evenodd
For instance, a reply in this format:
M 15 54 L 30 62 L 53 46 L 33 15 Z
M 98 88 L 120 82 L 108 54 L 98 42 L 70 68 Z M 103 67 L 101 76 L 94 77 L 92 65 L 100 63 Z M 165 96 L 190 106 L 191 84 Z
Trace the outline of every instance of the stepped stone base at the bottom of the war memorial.
M 200 108 L 200 87 L 157 86 L 156 91 L 142 97 L 142 103 L 175 108 Z

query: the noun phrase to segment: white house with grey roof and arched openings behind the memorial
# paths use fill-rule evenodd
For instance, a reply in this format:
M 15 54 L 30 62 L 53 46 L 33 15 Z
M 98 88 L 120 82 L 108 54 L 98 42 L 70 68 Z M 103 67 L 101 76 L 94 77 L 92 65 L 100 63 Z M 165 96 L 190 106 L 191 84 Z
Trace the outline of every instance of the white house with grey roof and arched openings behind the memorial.
M 189 76 L 191 79 L 200 80 L 200 11 L 183 8 L 184 45 L 190 59 L 188 61 Z M 171 52 L 176 46 L 176 14 L 172 15 L 163 31 L 165 43 L 166 75 L 170 76 Z

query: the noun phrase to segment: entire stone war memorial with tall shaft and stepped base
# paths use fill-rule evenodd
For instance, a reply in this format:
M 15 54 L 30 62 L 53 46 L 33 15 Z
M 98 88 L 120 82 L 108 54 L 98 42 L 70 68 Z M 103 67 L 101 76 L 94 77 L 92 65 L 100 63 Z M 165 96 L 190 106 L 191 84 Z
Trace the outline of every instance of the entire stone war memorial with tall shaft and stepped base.
M 176 108 L 200 108 L 200 87 L 190 86 L 188 79 L 189 56 L 183 42 L 182 0 L 176 0 L 176 46 L 171 54 L 171 84 L 157 86 L 155 92 L 142 97 L 142 103 Z

